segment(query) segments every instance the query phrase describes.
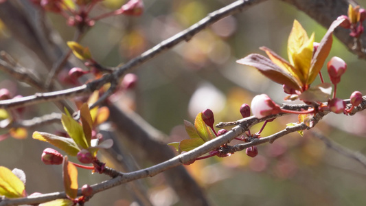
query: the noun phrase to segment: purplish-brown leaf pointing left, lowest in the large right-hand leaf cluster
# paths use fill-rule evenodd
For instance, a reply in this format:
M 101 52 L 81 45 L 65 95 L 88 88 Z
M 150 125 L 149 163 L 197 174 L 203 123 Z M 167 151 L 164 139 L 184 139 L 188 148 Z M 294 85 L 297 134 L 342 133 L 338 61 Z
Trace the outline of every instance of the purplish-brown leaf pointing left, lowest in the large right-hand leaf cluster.
M 261 47 L 261 49 L 262 48 L 265 47 Z M 278 61 L 281 62 L 280 59 L 278 59 Z M 270 59 L 266 58 L 265 56 L 262 56 L 260 54 L 250 54 L 240 60 L 237 60 L 236 62 L 242 65 L 255 67 L 264 76 L 273 80 L 273 82 L 277 82 L 278 84 L 286 84 L 288 85 L 288 87 L 296 90 L 300 89 L 300 85 L 293 77 L 293 75 L 288 73 L 287 70 L 284 70 L 282 67 L 275 65 Z M 283 62 L 283 64 L 287 65 L 288 67 L 292 67 L 289 65 L 288 62 Z

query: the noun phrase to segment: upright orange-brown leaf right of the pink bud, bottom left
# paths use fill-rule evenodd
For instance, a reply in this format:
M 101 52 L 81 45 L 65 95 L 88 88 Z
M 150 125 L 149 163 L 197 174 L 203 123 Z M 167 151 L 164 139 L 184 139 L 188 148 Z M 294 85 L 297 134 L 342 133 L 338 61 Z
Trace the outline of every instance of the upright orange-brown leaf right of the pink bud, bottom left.
M 78 170 L 69 163 L 67 156 L 64 157 L 62 163 L 62 176 L 64 179 L 65 193 L 69 198 L 75 199 L 78 196 Z

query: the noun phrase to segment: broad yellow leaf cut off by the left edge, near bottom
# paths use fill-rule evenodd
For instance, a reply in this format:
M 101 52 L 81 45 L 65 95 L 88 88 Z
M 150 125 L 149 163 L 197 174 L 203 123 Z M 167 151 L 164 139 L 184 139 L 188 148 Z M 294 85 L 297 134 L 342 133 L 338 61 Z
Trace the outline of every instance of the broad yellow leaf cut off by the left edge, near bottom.
M 19 198 L 25 194 L 23 182 L 8 168 L 0 166 L 0 195 Z

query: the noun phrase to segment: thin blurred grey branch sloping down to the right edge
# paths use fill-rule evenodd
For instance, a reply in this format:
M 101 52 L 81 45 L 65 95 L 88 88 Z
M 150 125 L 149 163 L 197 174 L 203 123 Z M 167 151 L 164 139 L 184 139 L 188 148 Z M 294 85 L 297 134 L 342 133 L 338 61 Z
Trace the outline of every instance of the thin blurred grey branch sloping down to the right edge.
M 339 154 L 344 155 L 345 157 L 354 159 L 359 163 L 361 163 L 364 167 L 366 167 L 365 155 L 362 155 L 360 152 L 354 152 L 348 148 L 341 146 L 340 144 L 337 144 L 335 141 L 332 141 L 328 137 L 325 137 L 325 135 L 321 134 L 317 130 L 312 130 L 311 133 L 312 135 L 323 141 L 328 148 L 335 150 L 336 152 L 339 152 Z

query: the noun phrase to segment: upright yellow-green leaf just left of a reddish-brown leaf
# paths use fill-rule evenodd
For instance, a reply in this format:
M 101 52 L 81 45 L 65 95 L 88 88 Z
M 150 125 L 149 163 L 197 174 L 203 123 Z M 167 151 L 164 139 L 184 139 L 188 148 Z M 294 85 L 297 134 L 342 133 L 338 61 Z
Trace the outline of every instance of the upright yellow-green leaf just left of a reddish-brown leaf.
M 76 122 L 75 119 L 69 117 L 67 115 L 62 114 L 61 117 L 62 126 L 70 135 L 70 137 L 75 141 L 80 149 L 89 148 L 87 138 L 85 138 L 84 131 L 82 130 L 82 126 Z

